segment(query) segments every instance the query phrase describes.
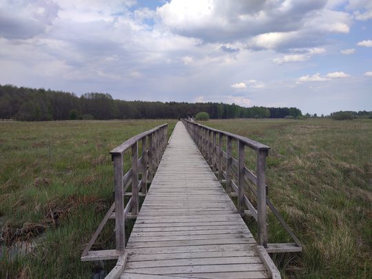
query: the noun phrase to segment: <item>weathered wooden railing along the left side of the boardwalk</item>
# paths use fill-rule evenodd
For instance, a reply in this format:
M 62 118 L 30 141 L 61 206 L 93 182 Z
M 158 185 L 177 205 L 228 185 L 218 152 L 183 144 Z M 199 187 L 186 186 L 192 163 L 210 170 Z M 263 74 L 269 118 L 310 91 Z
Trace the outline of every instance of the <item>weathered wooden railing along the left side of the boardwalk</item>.
M 115 201 L 101 221 L 92 239 L 85 247 L 81 260 L 111 260 L 125 254 L 125 219 L 136 218 L 140 196 L 147 194 L 149 183 L 161 161 L 167 146 L 168 125 L 154 127 L 125 141 L 110 152 L 114 162 L 114 196 Z M 138 158 L 138 145 L 141 142 L 141 156 Z M 130 151 L 130 169 L 124 174 L 124 155 Z M 141 178 L 140 180 L 138 180 Z M 131 188 L 132 192 L 126 192 Z M 124 205 L 124 196 L 131 196 Z M 115 219 L 116 249 L 91 251 L 92 245 L 108 219 Z

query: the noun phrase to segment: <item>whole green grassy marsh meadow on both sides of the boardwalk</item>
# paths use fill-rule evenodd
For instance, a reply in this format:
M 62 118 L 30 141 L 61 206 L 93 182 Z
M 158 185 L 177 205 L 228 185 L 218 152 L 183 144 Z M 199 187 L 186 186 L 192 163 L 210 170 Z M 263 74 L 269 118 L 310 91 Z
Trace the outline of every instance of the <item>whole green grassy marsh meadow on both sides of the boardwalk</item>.
M 1 246 L 0 278 L 98 273 L 101 265 L 79 257 L 112 202 L 110 149 L 164 122 L 0 123 L 0 245 L 29 250 L 16 256 Z M 170 133 L 175 121 L 167 122 Z M 269 196 L 304 243 L 302 254 L 275 256 L 283 276 L 371 278 L 371 120 L 205 124 L 271 146 Z M 112 229 L 94 248 L 113 247 Z M 290 241 L 276 223 L 269 232 L 271 242 Z

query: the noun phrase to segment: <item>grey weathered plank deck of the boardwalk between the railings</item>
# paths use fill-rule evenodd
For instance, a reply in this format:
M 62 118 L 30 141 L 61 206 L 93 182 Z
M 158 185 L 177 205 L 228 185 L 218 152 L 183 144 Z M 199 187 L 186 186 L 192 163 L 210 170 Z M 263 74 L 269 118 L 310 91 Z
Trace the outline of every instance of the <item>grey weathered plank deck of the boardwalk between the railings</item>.
M 272 262 L 257 246 L 178 122 L 127 242 L 121 278 L 269 278 Z

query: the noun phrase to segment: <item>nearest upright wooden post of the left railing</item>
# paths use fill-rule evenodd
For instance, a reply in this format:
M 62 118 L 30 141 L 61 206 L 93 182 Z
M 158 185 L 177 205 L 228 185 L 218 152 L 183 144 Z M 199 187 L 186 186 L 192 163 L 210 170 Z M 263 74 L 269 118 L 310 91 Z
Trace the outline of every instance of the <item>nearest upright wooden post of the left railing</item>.
M 123 158 L 122 154 L 112 155 L 114 161 L 114 192 L 115 192 L 115 240 L 116 250 L 125 250 L 125 220 L 123 193 Z

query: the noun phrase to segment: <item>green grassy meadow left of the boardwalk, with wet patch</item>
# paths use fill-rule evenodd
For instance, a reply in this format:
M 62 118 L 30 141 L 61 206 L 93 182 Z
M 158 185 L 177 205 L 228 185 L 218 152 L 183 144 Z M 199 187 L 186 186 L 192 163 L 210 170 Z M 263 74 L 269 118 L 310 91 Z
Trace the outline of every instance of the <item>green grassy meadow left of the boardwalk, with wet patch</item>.
M 0 278 L 99 273 L 80 256 L 113 201 L 109 152 L 165 122 L 0 122 Z M 109 223 L 95 249 L 114 247 Z

